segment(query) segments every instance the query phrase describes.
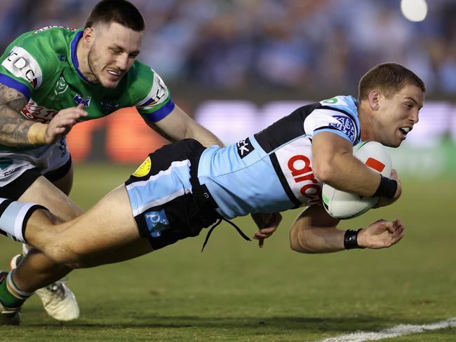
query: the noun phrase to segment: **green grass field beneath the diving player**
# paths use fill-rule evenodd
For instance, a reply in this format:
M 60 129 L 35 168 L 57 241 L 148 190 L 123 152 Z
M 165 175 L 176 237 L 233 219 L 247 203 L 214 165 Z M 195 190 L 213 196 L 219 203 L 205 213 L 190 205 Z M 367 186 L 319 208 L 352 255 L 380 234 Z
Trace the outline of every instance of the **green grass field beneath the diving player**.
M 85 209 L 135 167 L 78 165 L 72 198 Z M 231 226 L 206 231 L 123 264 L 79 270 L 69 285 L 81 318 L 61 324 L 36 296 L 20 327 L 1 327 L 1 341 L 321 341 L 358 330 L 425 324 L 456 317 L 456 178 L 403 180 L 395 205 L 345 221 L 358 228 L 383 217 L 407 226 L 382 250 L 297 254 L 281 229 L 258 249 Z M 248 218 L 236 219 L 248 235 Z M 1 241 L 6 268 L 19 245 Z M 442 329 L 385 341 L 456 341 Z

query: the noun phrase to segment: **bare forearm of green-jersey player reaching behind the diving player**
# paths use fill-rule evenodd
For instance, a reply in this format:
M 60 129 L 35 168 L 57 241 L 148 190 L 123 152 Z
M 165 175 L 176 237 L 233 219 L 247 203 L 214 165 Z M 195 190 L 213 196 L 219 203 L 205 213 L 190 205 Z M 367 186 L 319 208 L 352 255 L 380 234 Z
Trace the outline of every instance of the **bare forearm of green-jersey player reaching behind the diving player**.
M 201 142 L 203 146 L 223 146 L 220 139 L 206 128 L 203 128 L 199 123 L 196 123 L 196 121 L 185 114 L 185 111 L 182 111 L 177 105 L 175 105 L 173 111 L 165 118 L 156 123 L 147 122 L 147 125 L 171 142 L 192 138 Z

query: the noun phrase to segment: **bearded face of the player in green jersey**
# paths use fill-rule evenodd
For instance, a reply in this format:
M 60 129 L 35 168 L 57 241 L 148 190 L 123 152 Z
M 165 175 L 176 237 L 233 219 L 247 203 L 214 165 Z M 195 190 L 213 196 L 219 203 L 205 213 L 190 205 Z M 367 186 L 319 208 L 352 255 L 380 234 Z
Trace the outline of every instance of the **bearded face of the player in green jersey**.
M 90 74 L 95 83 L 105 88 L 116 88 L 140 53 L 142 32 L 116 22 L 99 25 L 94 31 L 95 38 L 88 51 Z

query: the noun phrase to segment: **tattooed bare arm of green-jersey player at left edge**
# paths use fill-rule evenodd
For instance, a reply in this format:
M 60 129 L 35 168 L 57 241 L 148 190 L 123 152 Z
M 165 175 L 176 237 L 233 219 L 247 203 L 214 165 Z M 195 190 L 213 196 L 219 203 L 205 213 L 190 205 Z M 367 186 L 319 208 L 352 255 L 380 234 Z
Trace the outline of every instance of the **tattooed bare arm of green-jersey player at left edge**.
M 29 145 L 28 132 L 35 122 L 20 114 L 26 104 L 22 93 L 0 83 L 0 144 Z

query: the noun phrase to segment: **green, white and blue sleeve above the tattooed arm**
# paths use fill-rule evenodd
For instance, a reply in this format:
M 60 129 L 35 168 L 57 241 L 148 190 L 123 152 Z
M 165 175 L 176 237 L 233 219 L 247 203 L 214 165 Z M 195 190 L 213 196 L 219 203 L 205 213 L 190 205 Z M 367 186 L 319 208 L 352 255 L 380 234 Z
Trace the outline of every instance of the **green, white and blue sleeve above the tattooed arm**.
M 0 57 L 0 83 L 18 90 L 29 100 L 43 84 L 46 72 L 52 72 L 56 56 L 50 45 L 38 34 L 27 33 L 15 39 Z

